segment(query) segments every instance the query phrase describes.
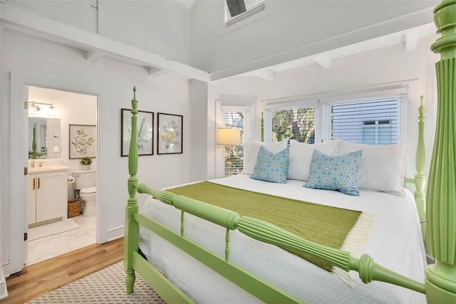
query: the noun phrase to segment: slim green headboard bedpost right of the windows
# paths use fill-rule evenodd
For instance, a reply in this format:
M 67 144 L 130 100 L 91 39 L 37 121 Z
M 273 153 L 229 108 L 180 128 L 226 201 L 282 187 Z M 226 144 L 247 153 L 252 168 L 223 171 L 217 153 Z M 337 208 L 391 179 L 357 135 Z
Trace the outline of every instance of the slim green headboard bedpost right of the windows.
M 415 155 L 415 202 L 418 209 L 418 216 L 420 217 L 421 233 L 425 242 L 427 252 L 427 230 L 426 230 L 426 175 L 425 175 L 425 107 L 423 106 L 423 95 L 420 96 L 421 104 L 418 108 L 420 115 L 418 116 L 418 147 Z

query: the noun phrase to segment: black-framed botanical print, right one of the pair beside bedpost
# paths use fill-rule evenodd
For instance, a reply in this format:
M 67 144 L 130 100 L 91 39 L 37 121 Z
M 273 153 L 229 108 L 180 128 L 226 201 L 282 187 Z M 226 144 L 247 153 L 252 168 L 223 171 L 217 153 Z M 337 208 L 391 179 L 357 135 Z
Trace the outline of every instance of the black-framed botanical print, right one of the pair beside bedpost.
M 182 115 L 157 113 L 157 154 L 181 154 L 183 152 Z

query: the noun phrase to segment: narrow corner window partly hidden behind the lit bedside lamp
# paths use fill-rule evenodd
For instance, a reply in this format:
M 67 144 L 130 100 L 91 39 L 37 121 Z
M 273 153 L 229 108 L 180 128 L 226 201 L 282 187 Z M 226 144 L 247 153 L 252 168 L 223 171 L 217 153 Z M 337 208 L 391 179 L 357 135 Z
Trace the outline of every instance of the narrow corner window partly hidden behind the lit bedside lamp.
M 231 127 L 241 130 L 242 145 L 231 146 L 224 150 L 223 157 L 223 176 L 239 174 L 244 169 L 244 157 L 247 157 L 247 135 L 249 133 L 250 111 L 240 108 L 239 110 L 222 108 L 224 115 L 225 127 Z M 229 152 L 229 156 L 227 154 Z M 229 165 L 227 161 L 229 160 Z M 227 172 L 229 170 L 229 172 Z

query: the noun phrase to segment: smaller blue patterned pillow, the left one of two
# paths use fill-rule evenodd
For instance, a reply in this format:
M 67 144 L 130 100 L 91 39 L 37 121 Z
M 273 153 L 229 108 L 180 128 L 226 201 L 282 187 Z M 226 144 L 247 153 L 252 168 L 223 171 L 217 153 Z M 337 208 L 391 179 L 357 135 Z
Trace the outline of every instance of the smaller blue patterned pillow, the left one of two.
M 251 179 L 259 179 L 264 182 L 286 183 L 288 172 L 289 147 L 274 154 L 261 146 L 258 151 L 257 163 Z

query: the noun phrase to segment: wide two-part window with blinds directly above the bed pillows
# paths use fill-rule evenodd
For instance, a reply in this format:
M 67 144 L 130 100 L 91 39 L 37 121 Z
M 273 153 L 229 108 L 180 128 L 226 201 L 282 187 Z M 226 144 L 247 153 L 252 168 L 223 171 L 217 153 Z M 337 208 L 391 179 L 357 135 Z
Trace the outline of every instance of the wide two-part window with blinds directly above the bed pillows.
M 405 100 L 405 95 L 400 95 L 331 103 L 319 100 L 314 106 L 301 108 L 299 102 L 294 102 L 293 108 L 266 105 L 265 138 L 273 142 L 291 137 L 307 143 L 332 139 L 366 145 L 398 143 L 405 136 Z

